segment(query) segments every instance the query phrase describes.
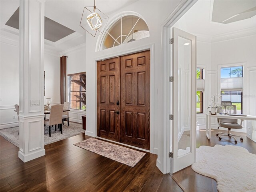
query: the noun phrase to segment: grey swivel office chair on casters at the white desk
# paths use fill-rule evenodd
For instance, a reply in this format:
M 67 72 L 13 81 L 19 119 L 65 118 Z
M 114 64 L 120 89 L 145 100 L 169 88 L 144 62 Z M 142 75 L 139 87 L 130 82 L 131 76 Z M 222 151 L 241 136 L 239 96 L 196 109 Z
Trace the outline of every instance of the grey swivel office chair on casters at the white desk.
M 236 114 L 236 106 L 232 105 L 232 102 L 230 102 L 230 101 L 222 101 L 221 105 L 222 105 L 222 109 L 221 109 L 222 113 Z M 222 133 L 222 132 L 218 132 L 216 134 L 216 136 L 219 136 L 221 134 L 219 136 L 219 140 L 222 139 L 221 138 L 222 136 L 229 136 L 229 137 L 234 138 L 235 143 L 237 143 L 237 140 L 235 138 L 235 136 L 236 136 L 236 137 L 240 137 L 240 140 L 243 141 L 243 138 L 241 136 L 239 136 L 239 135 L 232 135 L 230 133 L 231 129 L 242 129 L 243 128 L 242 127 L 242 122 L 243 122 L 243 120 L 241 120 L 241 124 L 238 124 L 237 123 L 237 119 L 218 118 L 218 124 L 220 125 L 220 127 L 228 128 L 228 134 Z

